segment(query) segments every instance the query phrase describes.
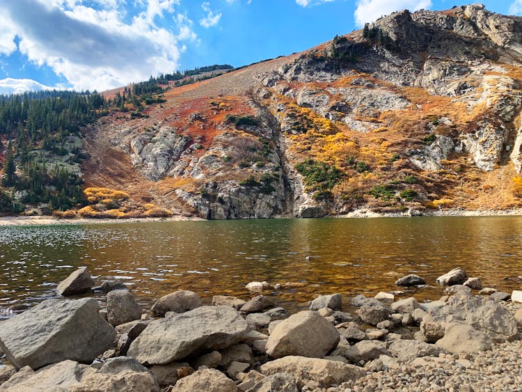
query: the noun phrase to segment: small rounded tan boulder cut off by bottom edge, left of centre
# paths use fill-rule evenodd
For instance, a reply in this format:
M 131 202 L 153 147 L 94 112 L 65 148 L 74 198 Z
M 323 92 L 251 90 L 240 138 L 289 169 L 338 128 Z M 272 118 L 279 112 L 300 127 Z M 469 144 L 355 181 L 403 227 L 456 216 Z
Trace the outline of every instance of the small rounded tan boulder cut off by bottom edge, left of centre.
M 237 392 L 236 384 L 216 369 L 198 370 L 178 380 L 171 392 Z

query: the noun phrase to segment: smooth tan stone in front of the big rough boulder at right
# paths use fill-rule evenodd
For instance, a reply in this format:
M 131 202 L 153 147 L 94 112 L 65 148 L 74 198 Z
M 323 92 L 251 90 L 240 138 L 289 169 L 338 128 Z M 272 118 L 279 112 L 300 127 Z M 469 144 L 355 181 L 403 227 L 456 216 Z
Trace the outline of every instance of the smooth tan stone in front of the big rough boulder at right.
M 476 354 L 480 351 L 491 350 L 491 338 L 482 331 L 477 331 L 465 324 L 450 322 L 445 324 L 445 334 L 436 345 L 448 352 L 460 354 L 467 352 Z

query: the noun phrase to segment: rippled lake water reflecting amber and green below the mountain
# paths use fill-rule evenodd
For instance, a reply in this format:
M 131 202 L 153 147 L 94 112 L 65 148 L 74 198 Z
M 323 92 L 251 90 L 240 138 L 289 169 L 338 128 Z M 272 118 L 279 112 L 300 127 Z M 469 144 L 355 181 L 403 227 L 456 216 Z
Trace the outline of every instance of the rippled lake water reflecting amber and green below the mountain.
M 246 298 L 250 281 L 282 283 L 272 294 L 287 304 L 374 295 L 411 273 L 429 283 L 412 294 L 436 299 L 436 277 L 454 267 L 510 292 L 522 288 L 522 217 L 2 226 L 0 308 L 52 297 L 81 266 L 97 283 L 124 281 L 144 306 L 182 289 Z

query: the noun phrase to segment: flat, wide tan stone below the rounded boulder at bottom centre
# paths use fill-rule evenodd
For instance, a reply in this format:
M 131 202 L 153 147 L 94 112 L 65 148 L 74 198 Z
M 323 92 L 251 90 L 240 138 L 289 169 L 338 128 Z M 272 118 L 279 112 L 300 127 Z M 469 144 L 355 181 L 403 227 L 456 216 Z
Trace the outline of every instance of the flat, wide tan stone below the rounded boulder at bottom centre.
M 319 387 L 328 388 L 331 385 L 356 380 L 366 375 L 365 370 L 354 365 L 304 356 L 285 356 L 264 363 L 260 370 L 264 375 L 276 373 L 291 375 L 296 380 L 299 389 L 310 381 L 317 382 Z

